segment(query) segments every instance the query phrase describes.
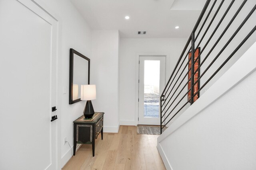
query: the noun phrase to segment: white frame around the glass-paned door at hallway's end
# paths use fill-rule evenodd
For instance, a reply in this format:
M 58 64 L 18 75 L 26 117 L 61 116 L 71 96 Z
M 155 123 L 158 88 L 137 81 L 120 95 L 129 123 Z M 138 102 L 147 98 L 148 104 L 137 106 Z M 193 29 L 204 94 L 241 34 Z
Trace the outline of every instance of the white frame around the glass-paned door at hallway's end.
M 165 84 L 166 84 L 166 80 L 168 80 L 168 76 L 169 74 L 167 74 L 168 72 L 170 72 L 170 54 L 166 53 L 166 52 L 152 52 L 152 53 L 136 53 L 136 78 L 135 78 L 135 125 L 138 125 L 138 117 L 139 117 L 139 102 L 138 102 L 138 98 L 139 98 L 139 59 L 140 56 L 161 56 L 161 57 L 165 57 Z M 160 92 L 162 93 L 162 92 Z

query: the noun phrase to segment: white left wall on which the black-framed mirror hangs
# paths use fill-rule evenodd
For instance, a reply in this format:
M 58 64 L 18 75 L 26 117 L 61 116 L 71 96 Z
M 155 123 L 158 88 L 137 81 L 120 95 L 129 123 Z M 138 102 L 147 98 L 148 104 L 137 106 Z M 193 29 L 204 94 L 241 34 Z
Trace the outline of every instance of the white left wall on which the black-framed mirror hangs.
M 69 0 L 43 0 L 61 20 L 60 25 L 60 54 L 59 54 L 59 86 L 58 86 L 58 123 L 60 125 L 60 141 L 58 141 L 60 157 L 59 168 L 71 157 L 71 150 L 68 144 L 63 145 L 64 137 L 73 147 L 73 121 L 83 114 L 85 102 L 68 104 L 69 88 L 69 49 L 73 48 L 86 57 L 92 59 L 91 55 L 91 34 L 92 31 L 84 18 L 76 10 Z M 63 94 L 66 88 L 66 94 Z

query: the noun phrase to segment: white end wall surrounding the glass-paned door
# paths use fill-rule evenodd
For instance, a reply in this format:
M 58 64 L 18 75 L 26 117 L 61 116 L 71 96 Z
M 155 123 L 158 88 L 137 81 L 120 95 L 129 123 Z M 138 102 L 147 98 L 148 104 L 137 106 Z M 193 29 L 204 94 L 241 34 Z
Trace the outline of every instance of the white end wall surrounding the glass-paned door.
M 120 39 L 120 95 L 121 125 L 137 125 L 136 53 L 166 54 L 166 81 L 173 70 L 187 39 Z

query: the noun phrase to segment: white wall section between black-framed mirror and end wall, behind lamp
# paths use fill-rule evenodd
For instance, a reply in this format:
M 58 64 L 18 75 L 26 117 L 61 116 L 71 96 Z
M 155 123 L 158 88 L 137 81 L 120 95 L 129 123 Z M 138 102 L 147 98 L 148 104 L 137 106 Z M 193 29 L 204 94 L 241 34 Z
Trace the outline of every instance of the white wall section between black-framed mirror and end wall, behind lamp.
M 104 132 L 117 133 L 118 113 L 118 30 L 92 31 L 91 84 L 96 84 L 94 111 L 104 112 Z

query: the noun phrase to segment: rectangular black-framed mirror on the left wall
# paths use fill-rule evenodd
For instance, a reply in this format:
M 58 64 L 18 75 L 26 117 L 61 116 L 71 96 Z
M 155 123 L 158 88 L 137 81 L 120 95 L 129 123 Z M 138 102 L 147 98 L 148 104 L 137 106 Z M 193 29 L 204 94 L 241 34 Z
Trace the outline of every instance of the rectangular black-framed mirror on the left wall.
M 69 104 L 80 102 L 81 85 L 90 84 L 90 59 L 70 49 Z

